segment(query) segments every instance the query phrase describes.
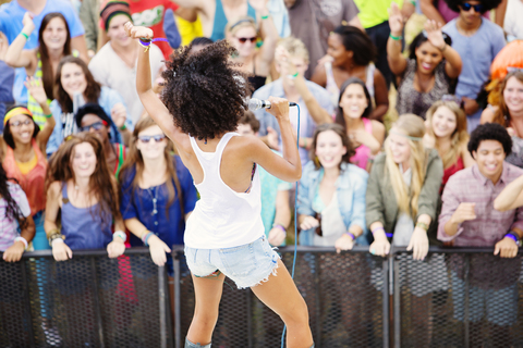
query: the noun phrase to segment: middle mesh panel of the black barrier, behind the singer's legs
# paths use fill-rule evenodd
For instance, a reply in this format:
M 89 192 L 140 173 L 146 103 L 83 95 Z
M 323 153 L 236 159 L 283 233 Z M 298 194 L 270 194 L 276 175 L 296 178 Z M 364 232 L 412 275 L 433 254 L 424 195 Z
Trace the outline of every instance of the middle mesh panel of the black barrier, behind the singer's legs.
M 290 270 L 293 252 L 288 250 L 281 256 Z M 182 340 L 178 347 L 183 347 L 194 313 L 194 287 L 183 252 L 177 258 Z M 294 281 L 308 307 L 316 347 L 384 346 L 382 265 L 384 259 L 368 252 L 299 251 Z M 280 347 L 283 322 L 251 290 L 239 290 L 226 278 L 219 310 L 214 347 Z

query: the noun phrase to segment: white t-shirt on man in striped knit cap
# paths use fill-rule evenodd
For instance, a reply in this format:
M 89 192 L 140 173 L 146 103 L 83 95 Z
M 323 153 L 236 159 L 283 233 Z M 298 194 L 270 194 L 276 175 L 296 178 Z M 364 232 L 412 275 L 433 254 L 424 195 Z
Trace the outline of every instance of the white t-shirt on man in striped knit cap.
M 163 54 L 161 50 L 157 46 L 151 45 L 149 62 L 153 83 L 163 66 L 162 61 Z M 122 96 L 133 125 L 136 124 L 144 111 L 136 91 L 136 65 L 133 69 L 129 67 L 114 52 L 109 41 L 90 60 L 89 70 L 98 83 L 117 90 Z

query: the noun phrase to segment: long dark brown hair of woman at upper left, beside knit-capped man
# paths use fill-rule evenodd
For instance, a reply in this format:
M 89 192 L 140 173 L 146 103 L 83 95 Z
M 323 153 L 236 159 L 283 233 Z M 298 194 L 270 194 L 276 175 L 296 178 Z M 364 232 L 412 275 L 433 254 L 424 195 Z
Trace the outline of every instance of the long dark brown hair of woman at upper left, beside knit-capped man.
M 47 46 L 44 42 L 44 32 L 47 26 L 53 18 L 61 18 L 65 25 L 65 30 L 68 32 L 68 37 L 65 38 L 65 44 L 63 45 L 62 55 L 71 55 L 71 32 L 69 30 L 68 21 L 60 12 L 51 12 L 46 14 L 44 20 L 41 20 L 40 29 L 38 32 L 38 53 L 40 54 L 41 61 L 41 80 L 44 83 L 44 89 L 48 99 L 54 99 L 54 76 L 52 75 L 52 66 L 49 62 L 49 52 L 47 51 Z

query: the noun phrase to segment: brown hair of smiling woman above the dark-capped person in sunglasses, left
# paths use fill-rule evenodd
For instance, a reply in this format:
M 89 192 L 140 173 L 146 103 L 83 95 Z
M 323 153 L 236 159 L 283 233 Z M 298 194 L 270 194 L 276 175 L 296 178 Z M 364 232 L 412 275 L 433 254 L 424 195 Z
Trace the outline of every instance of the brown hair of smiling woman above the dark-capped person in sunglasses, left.
M 63 89 L 63 86 L 62 86 L 62 69 L 63 69 L 63 65 L 69 63 L 78 65 L 80 67 L 82 67 L 82 71 L 84 72 L 85 80 L 87 83 L 87 87 L 85 88 L 85 91 L 84 91 L 85 102 L 98 103 L 98 98 L 100 97 L 100 91 L 101 91 L 101 85 L 95 80 L 95 77 L 93 77 L 93 74 L 87 67 L 87 64 L 85 64 L 83 60 L 73 55 L 68 55 L 62 58 L 62 60 L 58 64 L 57 75 L 54 78 L 54 97 L 60 103 L 60 107 L 62 108 L 63 113 L 73 112 L 73 100 L 71 100 L 71 97 Z

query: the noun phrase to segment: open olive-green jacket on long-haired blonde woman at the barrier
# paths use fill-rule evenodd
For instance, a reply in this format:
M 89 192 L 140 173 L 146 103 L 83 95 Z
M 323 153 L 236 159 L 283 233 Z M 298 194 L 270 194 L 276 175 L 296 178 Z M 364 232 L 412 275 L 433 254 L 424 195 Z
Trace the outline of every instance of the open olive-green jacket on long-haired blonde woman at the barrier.
M 393 234 L 399 208 L 389 176 L 385 175 L 385 153 L 376 157 L 368 177 L 365 220 L 368 229 L 370 229 L 373 223 L 379 221 L 384 224 L 387 233 Z M 417 217 L 422 214 L 428 214 L 431 217 L 427 233 L 430 244 L 437 243 L 436 232 L 439 210 L 441 209 L 439 188 L 441 187 L 442 178 L 443 163 L 439 158 L 438 151 L 435 149 L 427 150 L 427 172 L 417 202 L 417 216 L 412 216 L 412 220 L 415 224 Z

